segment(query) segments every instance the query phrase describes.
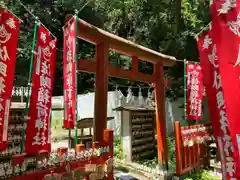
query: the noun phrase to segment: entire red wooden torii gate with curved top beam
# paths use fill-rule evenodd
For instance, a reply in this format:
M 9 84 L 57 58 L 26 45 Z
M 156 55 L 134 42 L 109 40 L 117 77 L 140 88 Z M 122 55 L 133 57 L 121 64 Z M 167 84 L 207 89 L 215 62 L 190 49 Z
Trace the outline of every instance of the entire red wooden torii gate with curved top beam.
M 165 120 L 165 83 L 163 66 L 173 66 L 176 58 L 137 45 L 82 19 L 78 19 L 78 37 L 96 45 L 96 60 L 79 60 L 78 70 L 96 73 L 94 141 L 102 142 L 107 125 L 108 76 L 153 83 L 156 100 L 156 130 L 158 161 L 167 165 L 166 120 Z M 108 62 L 109 50 L 132 57 L 132 70 L 114 67 Z M 138 71 L 138 60 L 151 62 L 154 73 L 144 74 Z

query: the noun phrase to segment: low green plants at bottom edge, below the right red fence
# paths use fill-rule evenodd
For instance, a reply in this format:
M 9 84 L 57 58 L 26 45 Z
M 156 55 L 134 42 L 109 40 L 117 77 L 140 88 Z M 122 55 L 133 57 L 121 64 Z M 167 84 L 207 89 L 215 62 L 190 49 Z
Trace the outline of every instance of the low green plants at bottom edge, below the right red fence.
M 184 180 L 220 180 L 220 178 L 211 175 L 209 172 L 205 170 L 202 170 L 189 175 Z

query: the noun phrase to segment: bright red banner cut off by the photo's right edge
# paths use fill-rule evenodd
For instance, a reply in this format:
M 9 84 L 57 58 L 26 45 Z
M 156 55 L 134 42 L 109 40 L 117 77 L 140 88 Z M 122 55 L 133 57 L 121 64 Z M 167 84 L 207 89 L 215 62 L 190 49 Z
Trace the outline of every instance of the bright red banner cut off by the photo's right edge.
M 219 63 L 219 74 L 221 75 L 222 87 L 230 137 L 232 157 L 228 159 L 227 177 L 240 179 L 240 127 L 239 127 L 239 106 L 240 106 L 240 9 L 237 7 L 240 1 L 223 2 L 214 0 L 211 5 L 213 22 L 214 42 L 217 46 Z M 225 126 L 222 127 L 223 131 Z M 226 139 L 225 138 L 225 139 Z M 228 151 L 224 148 L 226 157 Z M 232 159 L 231 159 L 232 158 Z M 237 174 L 237 175 L 235 175 Z

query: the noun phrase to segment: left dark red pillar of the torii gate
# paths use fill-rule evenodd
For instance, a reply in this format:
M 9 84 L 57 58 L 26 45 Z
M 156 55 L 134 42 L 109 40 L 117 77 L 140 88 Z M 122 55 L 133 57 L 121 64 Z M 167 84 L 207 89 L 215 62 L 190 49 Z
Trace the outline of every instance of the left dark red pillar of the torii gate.
M 104 130 L 107 127 L 108 96 L 108 45 L 100 43 L 96 46 L 96 89 L 94 111 L 93 140 L 103 142 Z

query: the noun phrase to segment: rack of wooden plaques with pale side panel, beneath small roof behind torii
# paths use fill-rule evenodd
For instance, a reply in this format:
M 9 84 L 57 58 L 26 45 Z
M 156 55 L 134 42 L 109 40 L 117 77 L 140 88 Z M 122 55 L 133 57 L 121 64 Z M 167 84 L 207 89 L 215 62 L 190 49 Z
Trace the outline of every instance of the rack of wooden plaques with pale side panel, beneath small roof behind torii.
M 156 152 L 155 113 L 152 110 L 122 111 L 121 141 L 128 162 L 151 158 Z

